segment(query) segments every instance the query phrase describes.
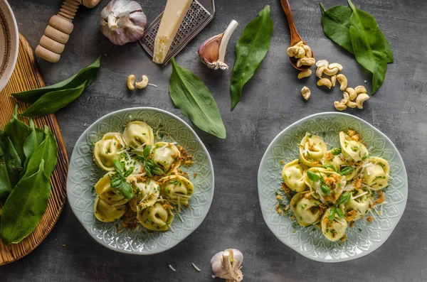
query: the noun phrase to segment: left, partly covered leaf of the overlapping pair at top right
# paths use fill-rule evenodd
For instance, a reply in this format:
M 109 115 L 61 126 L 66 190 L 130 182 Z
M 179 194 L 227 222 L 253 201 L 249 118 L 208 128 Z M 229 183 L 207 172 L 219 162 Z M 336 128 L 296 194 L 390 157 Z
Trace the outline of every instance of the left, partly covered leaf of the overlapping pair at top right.
M 332 41 L 339 46 L 353 53 L 352 40 L 350 40 L 350 17 L 352 16 L 352 9 L 346 6 L 333 6 L 325 10 L 323 3 L 320 3 L 322 9 L 322 27 L 323 32 Z

